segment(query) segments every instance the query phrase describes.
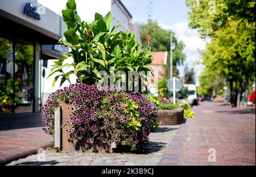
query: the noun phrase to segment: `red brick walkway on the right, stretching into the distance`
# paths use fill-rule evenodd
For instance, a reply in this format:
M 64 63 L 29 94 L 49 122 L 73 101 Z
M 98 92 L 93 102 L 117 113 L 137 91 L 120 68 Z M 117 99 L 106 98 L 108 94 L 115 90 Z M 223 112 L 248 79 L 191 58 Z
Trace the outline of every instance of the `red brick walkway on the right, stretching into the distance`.
M 204 102 L 193 111 L 159 165 L 255 165 L 255 108 Z M 208 161 L 210 148 L 216 162 Z

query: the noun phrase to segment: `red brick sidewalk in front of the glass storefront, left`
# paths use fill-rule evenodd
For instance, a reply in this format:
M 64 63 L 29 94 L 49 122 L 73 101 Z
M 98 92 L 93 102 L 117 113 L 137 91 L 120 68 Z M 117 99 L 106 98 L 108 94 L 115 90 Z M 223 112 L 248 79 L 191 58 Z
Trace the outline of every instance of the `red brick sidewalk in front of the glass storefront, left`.
M 0 117 L 0 165 L 34 154 L 52 145 L 53 138 L 43 133 L 40 113 Z

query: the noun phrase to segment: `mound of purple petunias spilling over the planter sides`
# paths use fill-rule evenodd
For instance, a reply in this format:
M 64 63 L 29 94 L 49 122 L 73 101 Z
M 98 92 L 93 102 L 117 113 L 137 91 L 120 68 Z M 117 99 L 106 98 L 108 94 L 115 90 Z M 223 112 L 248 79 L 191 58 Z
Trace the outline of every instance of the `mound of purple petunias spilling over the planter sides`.
M 54 109 L 59 100 L 72 106 L 69 121 L 62 125 L 72 141 L 89 144 L 129 145 L 141 149 L 155 128 L 156 107 L 139 92 L 98 91 L 82 83 L 52 93 L 42 107 L 42 129 L 54 136 Z

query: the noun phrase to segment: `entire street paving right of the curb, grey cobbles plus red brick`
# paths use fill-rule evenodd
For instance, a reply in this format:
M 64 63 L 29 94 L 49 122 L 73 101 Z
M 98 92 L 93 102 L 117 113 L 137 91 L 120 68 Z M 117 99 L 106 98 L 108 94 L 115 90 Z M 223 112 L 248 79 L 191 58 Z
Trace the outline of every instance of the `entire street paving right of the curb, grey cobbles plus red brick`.
M 160 127 L 151 133 L 148 154 L 46 151 L 46 162 L 39 162 L 37 154 L 9 165 L 255 165 L 255 108 L 205 102 L 193 111 L 195 118 L 179 129 Z M 208 161 L 210 148 L 216 150 L 216 162 Z

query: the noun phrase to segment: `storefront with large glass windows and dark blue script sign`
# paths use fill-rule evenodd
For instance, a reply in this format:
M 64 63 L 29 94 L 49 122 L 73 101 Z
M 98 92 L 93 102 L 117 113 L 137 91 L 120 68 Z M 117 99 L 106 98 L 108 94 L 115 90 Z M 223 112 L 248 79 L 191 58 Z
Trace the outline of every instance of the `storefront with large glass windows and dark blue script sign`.
M 67 49 L 57 45 L 61 16 L 36 1 L 0 1 L 0 114 L 40 111 L 43 60 Z

